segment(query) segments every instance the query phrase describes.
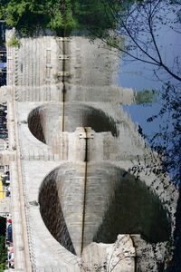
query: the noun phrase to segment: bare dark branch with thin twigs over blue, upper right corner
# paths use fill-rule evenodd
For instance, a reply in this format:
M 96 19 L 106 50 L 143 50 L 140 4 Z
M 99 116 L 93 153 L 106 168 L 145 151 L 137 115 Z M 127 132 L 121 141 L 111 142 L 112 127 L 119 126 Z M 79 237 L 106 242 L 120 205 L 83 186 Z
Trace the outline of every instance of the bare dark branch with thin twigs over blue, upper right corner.
M 104 3 L 104 2 L 102 2 Z M 158 48 L 156 36 L 154 34 L 154 22 L 153 20 L 157 19 L 157 12 L 159 12 L 160 8 L 166 7 L 167 8 L 167 1 L 164 0 L 148 0 L 144 2 L 138 2 L 134 5 L 129 5 L 127 7 L 126 11 L 123 11 L 122 13 L 119 12 L 119 9 L 115 7 L 115 2 L 113 0 L 108 0 L 107 4 L 109 5 L 109 11 L 108 9 L 105 9 L 107 13 L 110 13 L 112 18 L 115 20 L 115 22 L 118 24 L 119 32 L 122 30 L 123 34 L 125 32 L 125 36 L 127 36 L 132 43 L 132 45 L 129 45 L 129 49 L 127 50 L 123 46 L 115 46 L 114 44 L 110 44 L 112 47 L 118 49 L 120 52 L 125 53 L 126 55 L 129 55 L 134 60 L 138 60 L 143 63 L 149 63 L 156 66 L 159 66 L 163 68 L 167 73 L 169 73 L 173 78 L 175 78 L 178 81 L 181 81 L 181 77 L 174 73 L 173 70 L 171 70 L 166 63 L 163 62 L 160 49 Z M 121 4 L 120 9 L 121 9 Z M 144 11 L 142 13 L 142 11 Z M 145 15 L 147 16 L 145 16 Z M 158 17 L 159 19 L 159 17 Z M 157 20 L 158 20 L 157 19 Z M 162 19 L 160 19 L 162 20 Z M 141 23 L 143 25 L 141 25 Z M 157 24 L 157 21 L 156 23 Z M 150 40 L 147 42 L 144 42 L 144 40 L 139 38 L 139 34 L 142 31 L 142 28 L 145 27 L 145 32 L 150 34 Z M 119 35 L 119 33 L 118 33 Z M 107 38 L 104 39 L 104 42 L 106 42 Z M 152 47 L 152 50 L 155 50 L 157 53 L 157 58 L 150 52 L 150 48 Z M 138 50 L 138 54 L 132 53 L 134 50 Z M 143 57 L 141 57 L 141 55 Z M 146 58 L 144 58 L 144 56 Z M 150 60 L 150 61 L 149 61 Z

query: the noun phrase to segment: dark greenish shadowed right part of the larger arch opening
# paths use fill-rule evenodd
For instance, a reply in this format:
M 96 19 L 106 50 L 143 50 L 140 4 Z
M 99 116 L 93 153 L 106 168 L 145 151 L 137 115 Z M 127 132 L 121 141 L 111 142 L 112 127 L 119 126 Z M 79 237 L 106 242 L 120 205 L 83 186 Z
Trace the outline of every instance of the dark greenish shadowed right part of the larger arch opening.
M 115 185 L 96 242 L 113 243 L 118 234 L 140 234 L 149 243 L 167 241 L 171 219 L 160 199 L 145 182 L 119 168 L 109 168 Z

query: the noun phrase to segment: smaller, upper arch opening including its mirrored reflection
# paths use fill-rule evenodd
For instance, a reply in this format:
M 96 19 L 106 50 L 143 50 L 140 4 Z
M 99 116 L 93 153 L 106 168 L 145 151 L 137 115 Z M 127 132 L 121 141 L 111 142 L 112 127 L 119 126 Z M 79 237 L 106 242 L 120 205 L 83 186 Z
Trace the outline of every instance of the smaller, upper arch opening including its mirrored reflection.
M 36 139 L 48 145 L 62 131 L 73 132 L 77 127 L 90 127 L 96 132 L 110 131 L 113 136 L 118 136 L 112 118 L 83 104 L 65 103 L 64 108 L 61 104 L 40 106 L 30 112 L 28 127 Z

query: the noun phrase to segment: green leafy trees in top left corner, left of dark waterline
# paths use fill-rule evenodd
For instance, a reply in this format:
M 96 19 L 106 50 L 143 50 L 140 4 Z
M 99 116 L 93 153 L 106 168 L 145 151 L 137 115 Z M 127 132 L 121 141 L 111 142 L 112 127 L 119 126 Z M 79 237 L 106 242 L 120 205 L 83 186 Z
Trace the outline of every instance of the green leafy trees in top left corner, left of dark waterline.
M 23 35 L 49 27 L 56 33 L 63 27 L 61 4 L 61 0 L 2 0 L 0 17 Z

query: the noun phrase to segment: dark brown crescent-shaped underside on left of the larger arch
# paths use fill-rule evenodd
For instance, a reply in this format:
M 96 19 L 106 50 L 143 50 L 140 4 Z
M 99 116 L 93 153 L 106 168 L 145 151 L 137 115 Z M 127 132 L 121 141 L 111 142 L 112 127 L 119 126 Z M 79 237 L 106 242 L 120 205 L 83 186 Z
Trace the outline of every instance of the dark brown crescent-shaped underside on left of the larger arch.
M 66 168 L 53 170 L 43 180 L 39 193 L 40 212 L 45 226 L 60 244 L 75 254 L 71 237 L 62 212 L 59 189 L 62 189 L 62 180 L 65 178 Z

